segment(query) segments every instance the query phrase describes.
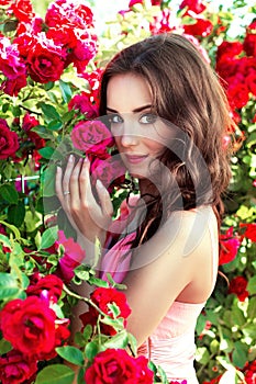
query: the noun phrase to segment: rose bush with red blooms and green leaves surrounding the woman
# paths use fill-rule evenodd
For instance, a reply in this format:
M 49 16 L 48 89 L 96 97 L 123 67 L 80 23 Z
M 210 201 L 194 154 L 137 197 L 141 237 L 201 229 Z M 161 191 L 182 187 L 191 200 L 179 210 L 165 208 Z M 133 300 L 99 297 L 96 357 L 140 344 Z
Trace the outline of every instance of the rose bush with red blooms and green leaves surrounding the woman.
M 108 121 L 98 118 L 100 76 L 115 52 L 162 32 L 185 33 L 198 46 L 216 69 L 238 126 L 224 143 L 233 142 L 236 151 L 224 196 L 220 276 L 197 325 L 199 381 L 254 383 L 255 21 L 252 16 L 237 36 L 230 31 L 238 8 L 253 15 L 255 7 L 234 1 L 232 9 L 214 10 L 183 0 L 177 11 L 168 0 L 133 0 L 97 36 L 93 12 L 84 1 L 56 0 L 41 15 L 30 0 L 0 0 L 0 5 L 1 383 L 73 383 L 75 373 L 64 361 L 78 368 L 78 383 L 104 383 L 108 372 L 119 382 L 167 383 L 160 368 L 136 357 L 125 329 L 124 286 L 96 278 L 96 263 L 76 242 L 54 187 L 56 167 L 70 154 L 88 156 L 92 184 L 100 178 L 114 214 L 126 215 L 129 180 Z M 90 297 L 71 289 L 85 280 L 96 285 Z M 69 326 L 79 301 L 88 309 L 75 347 Z

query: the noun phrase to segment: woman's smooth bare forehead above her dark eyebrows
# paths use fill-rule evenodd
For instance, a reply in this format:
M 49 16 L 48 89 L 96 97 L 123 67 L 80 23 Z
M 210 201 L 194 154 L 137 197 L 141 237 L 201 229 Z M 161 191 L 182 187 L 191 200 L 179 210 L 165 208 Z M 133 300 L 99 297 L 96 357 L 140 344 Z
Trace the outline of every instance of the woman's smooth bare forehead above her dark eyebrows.
M 119 112 L 152 104 L 152 92 L 146 79 L 135 74 L 113 76 L 108 83 L 107 106 Z

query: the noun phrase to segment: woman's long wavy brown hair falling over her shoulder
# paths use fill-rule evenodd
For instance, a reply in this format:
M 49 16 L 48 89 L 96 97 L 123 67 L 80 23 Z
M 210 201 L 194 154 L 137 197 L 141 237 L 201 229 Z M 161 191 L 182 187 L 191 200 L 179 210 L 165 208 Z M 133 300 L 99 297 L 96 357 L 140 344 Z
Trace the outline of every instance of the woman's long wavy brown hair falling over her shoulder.
M 181 208 L 178 194 L 183 210 L 211 204 L 220 226 L 222 195 L 231 179 L 231 151 L 224 148 L 223 136 L 234 123 L 216 74 L 187 37 L 151 36 L 124 48 L 108 64 L 101 79 L 100 115 L 107 114 L 108 82 L 121 74 L 142 76 L 149 84 L 154 111 L 185 134 L 177 144 L 183 145 L 178 150 L 182 158 L 168 148 L 162 156 L 175 181 L 168 181 L 164 196 L 147 199 L 146 217 L 133 246 L 152 237 L 171 211 Z M 167 210 L 163 210 L 163 199 Z

